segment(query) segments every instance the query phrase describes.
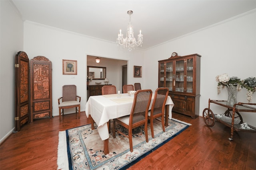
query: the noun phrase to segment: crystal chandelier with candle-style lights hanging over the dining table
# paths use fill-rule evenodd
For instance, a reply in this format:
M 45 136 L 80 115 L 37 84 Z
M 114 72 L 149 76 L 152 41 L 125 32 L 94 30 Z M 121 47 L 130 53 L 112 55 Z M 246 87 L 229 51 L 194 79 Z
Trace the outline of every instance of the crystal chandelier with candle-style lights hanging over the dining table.
M 141 30 L 140 30 L 140 34 L 138 35 L 138 41 L 136 41 L 136 39 L 134 38 L 133 26 L 131 23 L 132 13 L 133 13 L 132 11 L 127 11 L 127 14 L 129 14 L 130 16 L 130 21 L 129 21 L 129 25 L 127 26 L 126 38 L 124 39 L 120 29 L 120 33 L 118 34 L 118 38 L 116 39 L 116 43 L 118 43 L 117 45 L 121 45 L 123 48 L 128 47 L 128 51 L 131 51 L 132 48 L 134 49 L 139 45 L 140 47 L 142 47 L 142 43 L 143 43 L 143 35 L 141 34 Z

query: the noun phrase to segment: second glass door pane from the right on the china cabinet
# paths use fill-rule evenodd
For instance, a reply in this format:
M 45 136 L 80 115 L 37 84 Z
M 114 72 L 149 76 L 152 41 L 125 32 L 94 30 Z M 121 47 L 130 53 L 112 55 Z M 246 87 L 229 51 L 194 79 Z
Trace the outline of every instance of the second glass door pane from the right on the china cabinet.
M 184 92 L 184 60 L 175 64 L 175 92 Z

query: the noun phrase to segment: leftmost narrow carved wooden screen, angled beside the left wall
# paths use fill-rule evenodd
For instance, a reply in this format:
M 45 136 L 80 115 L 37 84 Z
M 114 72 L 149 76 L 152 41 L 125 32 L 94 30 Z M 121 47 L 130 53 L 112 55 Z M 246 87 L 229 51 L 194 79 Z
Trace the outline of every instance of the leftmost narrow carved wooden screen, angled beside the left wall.
M 15 130 L 29 122 L 29 59 L 19 51 L 15 56 Z

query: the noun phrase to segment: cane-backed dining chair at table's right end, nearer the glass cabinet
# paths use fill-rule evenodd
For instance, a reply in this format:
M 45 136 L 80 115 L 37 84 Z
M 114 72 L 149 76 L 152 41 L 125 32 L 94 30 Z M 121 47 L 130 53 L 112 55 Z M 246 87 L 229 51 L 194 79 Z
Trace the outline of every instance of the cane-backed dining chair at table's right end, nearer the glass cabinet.
M 166 100 L 169 94 L 168 88 L 157 88 L 154 96 L 154 100 L 152 103 L 151 110 L 148 111 L 148 120 L 150 121 L 150 129 L 152 138 L 154 138 L 154 129 L 153 129 L 153 120 L 161 117 L 162 128 L 165 132 L 164 128 L 164 108 L 166 104 Z M 158 120 L 158 119 L 156 119 Z

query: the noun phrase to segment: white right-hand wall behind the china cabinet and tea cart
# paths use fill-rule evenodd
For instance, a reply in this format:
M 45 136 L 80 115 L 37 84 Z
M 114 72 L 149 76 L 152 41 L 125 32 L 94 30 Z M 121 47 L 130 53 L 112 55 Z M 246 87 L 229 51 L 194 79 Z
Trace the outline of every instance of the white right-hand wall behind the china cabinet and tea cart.
M 154 90 L 158 86 L 158 62 L 178 55 L 198 53 L 201 57 L 200 115 L 208 107 L 208 99 L 227 100 L 227 92 L 217 95 L 215 77 L 227 73 L 245 79 L 256 77 L 256 10 L 244 16 L 225 21 L 215 26 L 184 35 L 145 51 L 146 77 L 144 83 Z M 247 102 L 246 90 L 238 93 L 238 102 Z M 252 103 L 256 103 L 256 93 Z M 211 104 L 214 113 L 224 113 L 223 108 Z M 224 109 L 225 110 L 225 109 Z M 255 113 L 242 114 L 244 121 L 256 127 Z

